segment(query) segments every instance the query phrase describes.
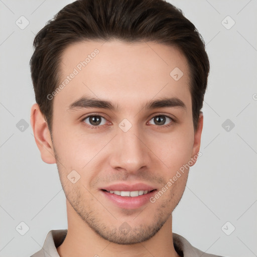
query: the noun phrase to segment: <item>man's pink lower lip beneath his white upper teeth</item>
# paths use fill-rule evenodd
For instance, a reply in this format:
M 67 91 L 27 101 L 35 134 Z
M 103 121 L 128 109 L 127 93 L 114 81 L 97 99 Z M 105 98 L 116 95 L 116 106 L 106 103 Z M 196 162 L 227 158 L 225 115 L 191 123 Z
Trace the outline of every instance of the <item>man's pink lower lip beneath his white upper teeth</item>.
M 150 202 L 150 197 L 152 197 L 156 193 L 156 190 L 154 190 L 144 195 L 131 197 L 131 196 L 120 196 L 120 195 L 111 194 L 104 190 L 100 190 L 100 191 L 105 195 L 105 197 L 107 197 L 107 199 L 109 199 L 118 207 L 123 209 L 140 208 L 141 206 Z

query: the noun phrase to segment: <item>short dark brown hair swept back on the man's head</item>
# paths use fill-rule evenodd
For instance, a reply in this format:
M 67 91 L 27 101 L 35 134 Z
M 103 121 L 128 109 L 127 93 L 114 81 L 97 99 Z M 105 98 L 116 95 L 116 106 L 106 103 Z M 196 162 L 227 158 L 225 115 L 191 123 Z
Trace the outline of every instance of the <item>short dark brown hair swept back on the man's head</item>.
M 177 46 L 190 67 L 194 129 L 209 74 L 204 41 L 182 11 L 164 0 L 78 0 L 65 6 L 34 39 L 30 60 L 36 102 L 52 129 L 53 102 L 65 48 L 83 40 L 152 41 Z

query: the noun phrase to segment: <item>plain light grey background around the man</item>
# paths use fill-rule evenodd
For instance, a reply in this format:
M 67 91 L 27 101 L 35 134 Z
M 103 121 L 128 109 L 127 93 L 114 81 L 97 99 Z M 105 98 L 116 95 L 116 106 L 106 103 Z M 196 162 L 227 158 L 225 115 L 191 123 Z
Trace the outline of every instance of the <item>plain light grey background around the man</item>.
M 67 228 L 56 165 L 41 160 L 30 125 L 29 61 L 35 34 L 71 2 L 0 0 L 0 256 L 30 256 L 51 229 Z M 211 64 L 202 156 L 173 213 L 173 232 L 209 253 L 257 256 L 257 1 L 171 3 L 203 36 Z

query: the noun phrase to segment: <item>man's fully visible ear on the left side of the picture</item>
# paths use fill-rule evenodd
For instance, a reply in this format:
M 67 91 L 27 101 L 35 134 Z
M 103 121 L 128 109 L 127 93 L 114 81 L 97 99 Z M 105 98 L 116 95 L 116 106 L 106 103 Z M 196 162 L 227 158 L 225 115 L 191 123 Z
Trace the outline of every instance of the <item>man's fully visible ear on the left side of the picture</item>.
M 41 153 L 41 159 L 45 163 L 56 163 L 50 131 L 48 129 L 45 117 L 40 111 L 37 103 L 33 104 L 31 107 L 30 123 L 33 129 L 36 144 Z

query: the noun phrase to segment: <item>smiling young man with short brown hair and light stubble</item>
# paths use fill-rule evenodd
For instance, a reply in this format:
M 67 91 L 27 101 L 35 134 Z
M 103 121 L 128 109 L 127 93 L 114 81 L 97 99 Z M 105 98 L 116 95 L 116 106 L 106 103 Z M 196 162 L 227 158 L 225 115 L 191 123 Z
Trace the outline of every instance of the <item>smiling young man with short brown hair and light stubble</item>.
M 194 25 L 162 0 L 81 0 L 34 47 L 31 124 L 68 229 L 32 256 L 216 256 L 172 233 L 209 73 Z

